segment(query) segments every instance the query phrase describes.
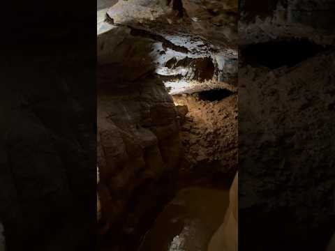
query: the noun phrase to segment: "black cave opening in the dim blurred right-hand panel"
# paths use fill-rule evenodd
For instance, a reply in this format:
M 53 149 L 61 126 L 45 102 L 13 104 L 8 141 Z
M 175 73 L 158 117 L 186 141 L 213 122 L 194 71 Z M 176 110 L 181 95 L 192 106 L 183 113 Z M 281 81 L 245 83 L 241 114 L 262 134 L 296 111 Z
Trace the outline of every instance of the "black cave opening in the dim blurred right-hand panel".
M 327 47 L 308 39 L 290 39 L 251 44 L 244 47 L 241 54 L 245 65 L 275 69 L 295 66 L 324 50 L 327 50 Z

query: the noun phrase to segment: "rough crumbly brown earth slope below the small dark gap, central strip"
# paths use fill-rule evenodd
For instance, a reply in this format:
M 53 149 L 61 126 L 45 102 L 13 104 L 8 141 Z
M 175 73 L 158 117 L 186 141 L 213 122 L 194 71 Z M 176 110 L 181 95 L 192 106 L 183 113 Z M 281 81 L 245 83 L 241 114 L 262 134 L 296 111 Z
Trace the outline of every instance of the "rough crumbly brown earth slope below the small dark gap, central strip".
M 220 90 L 213 90 L 218 91 Z M 174 96 L 186 105 L 188 114 L 181 127 L 185 149 L 184 168 L 204 173 L 235 172 L 237 167 L 237 94 L 222 100 L 202 100 L 201 94 Z

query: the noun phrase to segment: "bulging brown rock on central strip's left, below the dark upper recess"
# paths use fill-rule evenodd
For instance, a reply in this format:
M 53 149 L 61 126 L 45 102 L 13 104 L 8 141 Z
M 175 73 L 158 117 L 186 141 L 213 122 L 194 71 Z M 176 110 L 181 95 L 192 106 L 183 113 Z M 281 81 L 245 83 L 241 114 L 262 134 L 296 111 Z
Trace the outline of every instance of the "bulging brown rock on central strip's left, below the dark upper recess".
M 98 94 L 101 220 L 106 229 L 121 224 L 119 233 L 137 234 L 172 190 L 169 177 L 182 154 L 181 117 L 157 79 L 129 82 L 128 89 L 113 84 Z

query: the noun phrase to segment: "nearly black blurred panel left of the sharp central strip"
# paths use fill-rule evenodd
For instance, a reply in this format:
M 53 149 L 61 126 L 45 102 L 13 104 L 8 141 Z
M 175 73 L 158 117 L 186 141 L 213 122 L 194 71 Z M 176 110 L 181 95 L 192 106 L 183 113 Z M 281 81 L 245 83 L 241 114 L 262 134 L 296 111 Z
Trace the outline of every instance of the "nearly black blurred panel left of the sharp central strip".
M 0 221 L 10 250 L 93 250 L 96 3 L 1 3 Z

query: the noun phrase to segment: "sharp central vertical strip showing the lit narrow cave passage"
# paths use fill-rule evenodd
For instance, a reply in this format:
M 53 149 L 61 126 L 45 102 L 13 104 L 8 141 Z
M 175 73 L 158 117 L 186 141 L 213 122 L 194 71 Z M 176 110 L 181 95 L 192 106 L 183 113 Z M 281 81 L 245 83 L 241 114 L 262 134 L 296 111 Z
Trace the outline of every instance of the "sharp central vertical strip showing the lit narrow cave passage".
M 237 233 L 237 51 L 188 27 L 207 6 L 161 2 L 98 12 L 98 250 L 211 251 Z

